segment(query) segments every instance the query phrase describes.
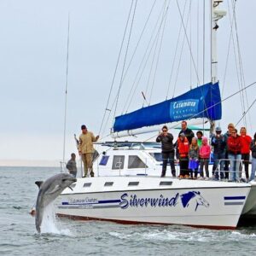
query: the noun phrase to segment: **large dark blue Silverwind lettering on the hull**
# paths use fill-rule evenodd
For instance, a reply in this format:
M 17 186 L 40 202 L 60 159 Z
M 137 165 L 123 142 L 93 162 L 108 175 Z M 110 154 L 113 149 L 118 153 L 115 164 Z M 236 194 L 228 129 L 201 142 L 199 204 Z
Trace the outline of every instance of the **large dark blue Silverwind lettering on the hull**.
M 156 198 L 137 198 L 137 195 L 130 195 L 130 199 L 127 197 L 127 193 L 121 195 L 119 206 L 122 209 L 128 207 L 175 207 L 177 205 L 178 193 L 171 198 L 164 197 L 164 195 Z

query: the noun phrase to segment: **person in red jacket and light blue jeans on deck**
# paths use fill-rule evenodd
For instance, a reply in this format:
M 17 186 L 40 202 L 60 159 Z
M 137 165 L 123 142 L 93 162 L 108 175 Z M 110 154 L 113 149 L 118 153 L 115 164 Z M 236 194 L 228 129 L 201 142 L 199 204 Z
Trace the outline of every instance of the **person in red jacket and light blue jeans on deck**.
M 241 137 L 237 134 L 237 130 L 231 131 L 228 138 L 228 155 L 230 160 L 230 177 L 233 182 L 239 181 L 239 166 L 241 161 Z

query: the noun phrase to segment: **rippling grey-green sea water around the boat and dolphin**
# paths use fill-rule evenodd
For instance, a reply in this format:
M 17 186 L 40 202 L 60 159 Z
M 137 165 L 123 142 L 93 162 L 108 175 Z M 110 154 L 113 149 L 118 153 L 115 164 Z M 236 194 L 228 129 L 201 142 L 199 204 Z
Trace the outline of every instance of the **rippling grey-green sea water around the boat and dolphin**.
M 254 255 L 256 226 L 205 230 L 49 218 L 38 235 L 29 214 L 35 181 L 59 168 L 0 167 L 0 255 Z

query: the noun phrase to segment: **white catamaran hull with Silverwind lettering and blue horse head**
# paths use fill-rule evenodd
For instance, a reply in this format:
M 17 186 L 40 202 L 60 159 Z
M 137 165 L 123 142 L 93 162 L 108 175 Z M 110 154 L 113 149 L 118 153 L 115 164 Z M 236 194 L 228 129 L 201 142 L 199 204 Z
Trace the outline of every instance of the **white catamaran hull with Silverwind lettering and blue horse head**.
M 59 216 L 136 224 L 183 224 L 235 229 L 248 183 L 160 177 L 79 178 L 55 202 Z

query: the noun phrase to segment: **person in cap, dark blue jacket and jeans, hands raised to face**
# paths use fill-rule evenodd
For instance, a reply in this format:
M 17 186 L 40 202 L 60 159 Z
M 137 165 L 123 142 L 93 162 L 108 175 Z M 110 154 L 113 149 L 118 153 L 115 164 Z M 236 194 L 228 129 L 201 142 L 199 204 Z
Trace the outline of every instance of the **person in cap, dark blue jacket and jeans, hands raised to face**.
M 224 158 L 227 142 L 224 135 L 221 133 L 220 127 L 216 127 L 215 132 L 216 133 L 213 134 L 211 139 L 214 160 L 212 166 L 212 176 L 214 177 L 214 179 L 218 180 L 218 172 L 216 172 L 216 169 L 218 169 L 218 165 L 220 167 L 220 169 L 218 169 L 218 171 L 220 172 L 220 179 L 224 179 Z

